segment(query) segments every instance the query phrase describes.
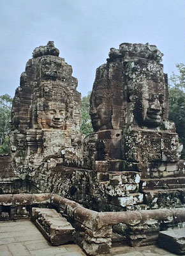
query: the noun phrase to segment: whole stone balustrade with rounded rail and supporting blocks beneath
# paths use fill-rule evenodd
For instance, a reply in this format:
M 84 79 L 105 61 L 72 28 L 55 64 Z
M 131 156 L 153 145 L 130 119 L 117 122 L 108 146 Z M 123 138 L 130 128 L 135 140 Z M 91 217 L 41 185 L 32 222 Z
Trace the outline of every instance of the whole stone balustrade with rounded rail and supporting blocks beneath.
M 0 220 L 29 218 L 32 207 L 54 208 L 65 216 L 76 229 L 75 241 L 89 255 L 109 252 L 112 230 L 124 235 L 131 246 L 140 246 L 156 243 L 159 231 L 185 223 L 184 208 L 96 212 L 49 193 L 0 195 Z

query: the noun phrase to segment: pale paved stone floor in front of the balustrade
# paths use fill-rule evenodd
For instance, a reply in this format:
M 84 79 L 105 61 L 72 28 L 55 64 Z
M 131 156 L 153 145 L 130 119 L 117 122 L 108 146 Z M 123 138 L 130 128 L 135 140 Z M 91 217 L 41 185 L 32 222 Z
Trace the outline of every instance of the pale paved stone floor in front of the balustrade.
M 172 256 L 157 246 L 117 246 L 107 256 Z M 77 244 L 52 246 L 29 220 L 0 221 L 0 256 L 85 256 Z

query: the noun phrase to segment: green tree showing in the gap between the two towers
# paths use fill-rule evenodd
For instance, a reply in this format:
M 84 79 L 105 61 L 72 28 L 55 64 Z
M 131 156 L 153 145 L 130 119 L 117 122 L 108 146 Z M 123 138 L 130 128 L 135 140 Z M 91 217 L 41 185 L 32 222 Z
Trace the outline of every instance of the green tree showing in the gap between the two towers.
M 80 127 L 80 131 L 85 134 L 85 136 L 89 135 L 93 132 L 93 127 L 91 124 L 91 117 L 89 115 L 89 99 L 91 96 L 91 92 L 87 94 L 87 96 L 82 97 L 82 108 L 81 108 L 81 117 L 82 124 Z

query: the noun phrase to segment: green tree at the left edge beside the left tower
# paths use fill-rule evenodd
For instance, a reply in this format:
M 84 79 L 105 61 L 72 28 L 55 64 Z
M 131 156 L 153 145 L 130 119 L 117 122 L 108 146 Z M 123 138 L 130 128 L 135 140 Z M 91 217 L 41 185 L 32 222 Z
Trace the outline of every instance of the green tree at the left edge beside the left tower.
M 10 133 L 12 99 L 10 95 L 0 96 L 0 153 L 8 152 L 8 135 Z

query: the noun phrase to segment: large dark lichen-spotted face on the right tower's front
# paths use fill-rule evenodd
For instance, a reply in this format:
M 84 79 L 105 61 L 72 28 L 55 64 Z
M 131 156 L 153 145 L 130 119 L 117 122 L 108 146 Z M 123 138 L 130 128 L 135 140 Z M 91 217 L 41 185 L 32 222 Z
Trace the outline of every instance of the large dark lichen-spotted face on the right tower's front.
M 137 88 L 134 114 L 138 124 L 158 127 L 164 113 L 165 85 L 145 81 Z

